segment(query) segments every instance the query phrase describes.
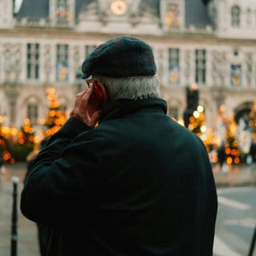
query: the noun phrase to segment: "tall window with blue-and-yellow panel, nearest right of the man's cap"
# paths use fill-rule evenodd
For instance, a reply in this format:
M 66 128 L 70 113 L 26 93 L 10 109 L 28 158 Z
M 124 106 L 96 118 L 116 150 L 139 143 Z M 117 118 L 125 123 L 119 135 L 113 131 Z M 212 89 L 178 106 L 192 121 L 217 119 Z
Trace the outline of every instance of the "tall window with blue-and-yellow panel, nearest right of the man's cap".
M 179 83 L 179 49 L 169 49 L 169 78 L 170 84 L 177 85 Z

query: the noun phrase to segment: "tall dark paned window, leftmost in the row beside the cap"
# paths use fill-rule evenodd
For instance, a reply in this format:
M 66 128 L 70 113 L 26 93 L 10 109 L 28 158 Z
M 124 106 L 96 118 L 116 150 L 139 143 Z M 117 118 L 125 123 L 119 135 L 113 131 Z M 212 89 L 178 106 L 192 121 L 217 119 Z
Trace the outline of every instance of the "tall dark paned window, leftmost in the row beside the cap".
M 28 43 L 26 45 L 26 78 L 39 78 L 39 44 Z

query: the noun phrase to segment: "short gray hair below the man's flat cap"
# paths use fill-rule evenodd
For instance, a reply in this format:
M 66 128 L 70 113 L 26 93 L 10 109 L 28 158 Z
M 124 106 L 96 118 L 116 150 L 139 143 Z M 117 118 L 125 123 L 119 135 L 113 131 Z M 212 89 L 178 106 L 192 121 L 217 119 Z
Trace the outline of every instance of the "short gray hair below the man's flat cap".
M 110 102 L 126 98 L 130 100 L 141 98 L 160 98 L 160 84 L 157 75 L 126 78 L 110 78 L 94 75 L 98 82 L 106 87 Z

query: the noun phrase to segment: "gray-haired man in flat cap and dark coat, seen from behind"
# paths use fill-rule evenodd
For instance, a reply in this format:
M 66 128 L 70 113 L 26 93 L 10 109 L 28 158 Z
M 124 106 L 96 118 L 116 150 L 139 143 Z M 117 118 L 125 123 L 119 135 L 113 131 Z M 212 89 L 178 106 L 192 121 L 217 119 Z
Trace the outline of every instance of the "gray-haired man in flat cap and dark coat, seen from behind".
M 200 138 L 166 116 L 150 46 L 112 38 L 82 72 L 93 86 L 22 191 L 22 213 L 58 234 L 50 255 L 212 255 L 210 161 Z

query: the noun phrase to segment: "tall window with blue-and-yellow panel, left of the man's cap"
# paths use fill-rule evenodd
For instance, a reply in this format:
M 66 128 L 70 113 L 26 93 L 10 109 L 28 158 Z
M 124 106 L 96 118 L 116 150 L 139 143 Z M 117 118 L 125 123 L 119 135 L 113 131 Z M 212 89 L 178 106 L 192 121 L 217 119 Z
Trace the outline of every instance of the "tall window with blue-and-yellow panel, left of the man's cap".
M 68 45 L 57 45 L 57 56 L 56 56 L 56 80 L 58 82 L 68 81 L 69 72 L 69 46 Z

